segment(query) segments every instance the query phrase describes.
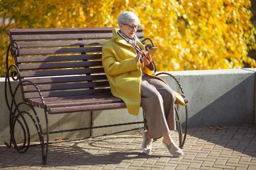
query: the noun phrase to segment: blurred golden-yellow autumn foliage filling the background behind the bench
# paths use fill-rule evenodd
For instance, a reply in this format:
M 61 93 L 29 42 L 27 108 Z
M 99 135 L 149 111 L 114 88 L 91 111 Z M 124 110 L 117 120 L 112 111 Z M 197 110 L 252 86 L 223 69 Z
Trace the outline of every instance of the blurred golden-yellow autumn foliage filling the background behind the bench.
M 122 11 L 136 13 L 146 37 L 159 47 L 154 57 L 157 71 L 255 67 L 248 55 L 256 49 L 252 2 L 0 0 L 0 77 L 6 70 L 8 29 L 118 26 Z

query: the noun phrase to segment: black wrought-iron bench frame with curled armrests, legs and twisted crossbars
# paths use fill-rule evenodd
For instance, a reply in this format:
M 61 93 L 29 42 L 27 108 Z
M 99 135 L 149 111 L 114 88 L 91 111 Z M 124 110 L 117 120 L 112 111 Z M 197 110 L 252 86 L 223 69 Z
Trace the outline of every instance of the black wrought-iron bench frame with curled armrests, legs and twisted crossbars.
M 108 28 L 108 29 L 112 30 L 112 28 Z M 32 31 L 33 32 L 34 30 L 36 30 L 36 29 L 26 29 L 25 32 L 27 32 L 27 31 Z M 69 30 L 73 31 L 73 29 L 69 29 Z M 47 29 L 44 29 L 44 31 L 47 31 Z M 58 29 L 54 29 L 54 31 L 58 32 Z M 81 29 L 80 31 L 83 31 L 83 29 Z M 142 32 L 142 30 L 140 32 Z M 10 33 L 9 33 L 9 35 L 10 35 Z M 6 73 L 6 77 L 5 77 L 5 89 L 4 89 L 7 107 L 9 108 L 9 111 L 10 111 L 9 124 L 10 124 L 10 136 L 11 137 L 10 137 L 9 144 L 7 142 L 5 142 L 5 144 L 8 148 L 11 148 L 11 145 L 13 144 L 14 148 L 18 152 L 25 153 L 28 150 L 29 146 L 31 146 L 30 136 L 29 136 L 29 127 L 28 127 L 27 121 L 23 117 L 24 114 L 28 115 L 33 120 L 34 125 L 37 129 L 38 137 L 39 137 L 39 140 L 40 140 L 40 144 L 38 144 L 38 145 L 41 146 L 42 163 L 43 164 L 45 164 L 46 161 L 47 161 L 47 153 L 48 153 L 49 144 L 59 143 L 59 142 L 63 142 L 63 141 L 75 141 L 75 140 L 81 140 L 81 139 L 88 139 L 88 138 L 92 138 L 92 137 L 112 135 L 112 134 L 117 134 L 117 133 L 120 133 L 120 132 L 127 132 L 127 131 L 132 131 L 132 130 L 139 130 L 141 128 L 144 128 L 144 129 L 147 128 L 147 121 L 146 121 L 146 118 L 144 116 L 144 121 L 140 121 L 140 122 L 130 122 L 130 123 L 125 123 L 125 124 L 112 124 L 112 125 L 96 126 L 96 127 L 85 127 L 85 128 L 68 129 L 68 130 L 60 130 L 60 131 L 51 132 L 49 130 L 48 119 L 47 119 L 48 110 L 47 110 L 47 106 L 45 104 L 45 99 L 43 97 L 43 94 L 42 94 L 40 88 L 37 86 L 37 84 L 35 84 L 34 82 L 32 82 L 30 80 L 20 79 L 20 70 L 18 68 L 18 64 L 11 65 L 11 66 L 9 66 L 9 64 L 8 64 L 9 52 L 11 53 L 11 56 L 15 57 L 15 58 L 18 57 L 19 53 L 20 53 L 19 43 L 16 42 L 15 40 L 12 40 L 11 35 L 10 35 L 10 39 L 11 39 L 11 42 L 8 46 L 7 55 L 6 55 L 7 73 Z M 141 40 L 141 42 L 143 42 L 146 45 L 146 40 L 150 40 L 150 39 L 145 38 L 145 39 Z M 154 46 L 152 40 L 150 40 L 150 44 L 146 46 L 147 49 L 149 49 L 150 46 Z M 181 91 L 180 94 L 182 95 L 182 97 L 184 97 L 184 100 L 187 103 L 188 99 L 184 96 L 184 91 L 183 91 L 182 86 L 180 85 L 179 81 L 173 75 L 171 75 L 169 73 L 164 73 L 164 72 L 163 73 L 158 73 L 157 76 L 162 75 L 162 74 L 169 75 L 169 76 L 173 77 L 173 79 L 177 82 L 177 84 L 180 88 L 180 91 Z M 19 84 L 16 87 L 13 87 L 12 83 L 11 83 L 11 79 L 13 79 L 14 81 L 19 81 Z M 45 113 L 46 132 L 43 132 L 43 129 L 41 127 L 41 124 L 43 122 L 40 122 L 40 120 L 38 119 L 38 115 L 36 113 L 36 110 L 34 109 L 34 107 L 36 107 L 36 106 L 32 106 L 29 102 L 24 101 L 24 99 L 23 99 L 23 102 L 18 103 L 16 101 L 16 99 L 15 99 L 16 93 L 17 93 L 18 89 L 22 86 L 22 84 L 30 84 L 31 86 L 34 86 L 34 88 L 36 88 L 36 91 L 38 92 L 38 95 L 40 96 L 39 99 L 41 100 L 41 103 L 42 103 L 40 108 L 43 108 L 44 113 Z M 8 96 L 10 96 L 10 99 L 8 98 Z M 20 110 L 21 105 L 28 106 L 31 109 L 31 113 L 29 113 L 27 110 Z M 121 103 L 118 106 L 115 106 L 111 109 L 118 109 L 118 108 L 126 108 L 126 107 L 125 107 L 124 103 Z M 96 106 L 96 108 L 94 108 L 93 110 L 109 110 L 109 109 L 110 108 L 97 108 L 97 106 Z M 176 112 L 175 116 L 176 116 L 177 130 L 179 132 L 180 148 L 182 148 L 184 146 L 184 142 L 185 142 L 185 139 L 186 139 L 187 128 L 188 128 L 188 110 L 187 110 L 187 106 L 185 106 L 185 109 L 186 109 L 186 123 L 185 123 L 185 131 L 184 131 L 184 134 L 183 134 L 180 118 L 179 118 L 179 115 L 178 115 L 177 106 L 175 106 L 175 112 Z M 20 121 L 20 119 L 22 119 L 22 121 Z M 14 136 L 15 124 L 17 122 L 18 122 L 18 124 L 20 124 L 20 127 L 22 128 L 22 131 L 24 133 L 24 142 L 21 146 L 20 146 L 20 144 L 19 145 L 16 144 L 16 140 L 15 140 L 15 136 Z M 124 131 L 119 131 L 119 132 L 112 132 L 112 133 L 97 135 L 97 136 L 82 137 L 82 138 L 78 138 L 78 139 L 68 139 L 68 140 L 53 141 L 53 142 L 49 141 L 49 134 L 53 134 L 53 133 L 69 132 L 69 131 L 75 131 L 75 130 L 87 130 L 87 129 L 92 129 L 92 128 L 123 126 L 123 125 L 128 125 L 128 124 L 144 124 L 144 127 L 124 130 Z M 44 136 L 46 136 L 46 141 L 45 141 Z

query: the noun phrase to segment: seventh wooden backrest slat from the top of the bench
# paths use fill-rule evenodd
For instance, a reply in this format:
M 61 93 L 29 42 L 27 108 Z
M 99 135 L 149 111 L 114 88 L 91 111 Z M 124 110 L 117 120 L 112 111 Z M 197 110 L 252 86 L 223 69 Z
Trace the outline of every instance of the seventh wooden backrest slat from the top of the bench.
M 20 72 L 20 78 L 57 76 L 57 75 L 85 75 L 90 73 L 104 74 L 105 72 L 104 72 L 104 68 L 77 68 L 77 69 L 46 70 L 46 71 L 22 71 Z

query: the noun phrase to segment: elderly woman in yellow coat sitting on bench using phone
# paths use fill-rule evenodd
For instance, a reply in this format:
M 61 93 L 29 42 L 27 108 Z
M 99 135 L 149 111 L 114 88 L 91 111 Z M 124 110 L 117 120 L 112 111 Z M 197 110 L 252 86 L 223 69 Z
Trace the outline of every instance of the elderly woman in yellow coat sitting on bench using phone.
M 148 121 L 141 146 L 149 154 L 154 138 L 163 136 L 163 145 L 174 157 L 183 155 L 169 131 L 175 127 L 175 92 L 159 77 L 153 76 L 152 57 L 146 57 L 144 45 L 135 35 L 139 18 L 126 11 L 118 17 L 119 29 L 113 29 L 112 39 L 103 44 L 102 63 L 111 93 L 122 99 L 128 112 L 139 114 L 140 106 Z

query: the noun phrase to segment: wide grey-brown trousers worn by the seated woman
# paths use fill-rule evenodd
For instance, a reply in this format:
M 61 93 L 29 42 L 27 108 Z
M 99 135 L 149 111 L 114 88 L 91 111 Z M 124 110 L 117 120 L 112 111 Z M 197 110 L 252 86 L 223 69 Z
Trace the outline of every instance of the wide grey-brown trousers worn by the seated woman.
M 150 138 L 176 130 L 174 91 L 161 80 L 148 75 L 142 76 L 140 88 L 141 107 L 148 121 Z

